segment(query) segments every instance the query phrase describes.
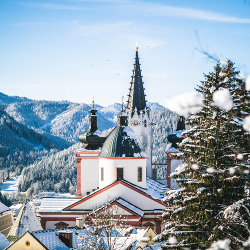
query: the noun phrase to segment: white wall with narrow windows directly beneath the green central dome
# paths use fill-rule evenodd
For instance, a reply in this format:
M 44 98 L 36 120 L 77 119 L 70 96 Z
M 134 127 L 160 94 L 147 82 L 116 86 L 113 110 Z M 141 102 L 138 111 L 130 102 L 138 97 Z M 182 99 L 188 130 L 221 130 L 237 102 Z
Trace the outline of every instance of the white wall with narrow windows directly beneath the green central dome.
M 123 159 L 124 158 L 124 159 Z M 99 188 L 104 188 L 117 180 L 116 168 L 123 168 L 124 180 L 139 187 L 146 188 L 146 159 L 145 158 L 100 158 Z M 142 167 L 142 182 L 138 182 L 138 167 Z M 104 168 L 104 180 L 101 180 L 101 168 Z

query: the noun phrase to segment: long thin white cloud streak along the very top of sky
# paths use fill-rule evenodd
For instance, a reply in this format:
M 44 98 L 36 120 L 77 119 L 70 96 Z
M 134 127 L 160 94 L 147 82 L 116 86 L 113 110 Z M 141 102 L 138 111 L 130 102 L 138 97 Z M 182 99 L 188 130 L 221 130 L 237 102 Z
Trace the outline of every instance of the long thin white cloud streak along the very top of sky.
M 109 4 L 106 7 L 115 6 L 124 11 L 132 11 L 146 16 L 172 16 L 184 19 L 196 19 L 204 21 L 214 21 L 223 23 L 245 23 L 250 24 L 250 18 L 230 16 L 219 12 L 188 8 L 176 7 L 155 2 L 131 1 L 131 0 L 67 0 L 65 4 L 60 2 L 23 2 L 22 4 L 44 9 L 52 10 L 87 10 L 88 4 Z

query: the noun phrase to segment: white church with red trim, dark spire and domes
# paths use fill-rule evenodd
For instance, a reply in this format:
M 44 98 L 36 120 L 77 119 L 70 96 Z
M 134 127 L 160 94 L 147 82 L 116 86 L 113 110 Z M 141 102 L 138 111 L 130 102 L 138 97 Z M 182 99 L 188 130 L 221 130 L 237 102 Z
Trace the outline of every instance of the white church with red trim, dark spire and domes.
M 79 140 L 77 192 L 74 198 L 44 198 L 39 208 L 44 229 L 81 226 L 93 210 L 109 203 L 118 209 L 125 223 L 151 227 L 160 233 L 161 200 L 168 187 L 152 179 L 152 119 L 144 93 L 138 48 L 126 108 L 117 126 L 107 136 L 98 132 L 94 102 L 89 129 Z

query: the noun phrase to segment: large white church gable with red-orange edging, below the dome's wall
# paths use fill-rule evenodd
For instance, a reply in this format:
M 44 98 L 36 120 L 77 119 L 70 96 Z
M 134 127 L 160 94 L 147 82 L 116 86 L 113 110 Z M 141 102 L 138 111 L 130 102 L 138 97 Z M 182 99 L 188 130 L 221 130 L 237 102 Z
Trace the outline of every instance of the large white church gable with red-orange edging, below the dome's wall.
M 150 195 L 136 187 L 124 183 L 123 181 L 117 181 L 112 185 L 84 197 L 80 201 L 66 207 L 64 210 L 95 210 L 96 208 L 107 204 L 109 200 L 115 200 L 119 197 L 141 210 L 144 210 L 145 208 L 147 208 L 147 210 L 162 210 L 166 207 L 166 204 L 162 203 L 160 200 L 152 198 Z

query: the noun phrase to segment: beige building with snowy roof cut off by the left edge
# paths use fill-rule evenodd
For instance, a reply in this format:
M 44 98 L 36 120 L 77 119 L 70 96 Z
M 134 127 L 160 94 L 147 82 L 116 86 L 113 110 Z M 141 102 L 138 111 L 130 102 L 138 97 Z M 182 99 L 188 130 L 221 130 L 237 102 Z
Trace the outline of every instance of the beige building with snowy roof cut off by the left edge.
M 0 233 L 8 235 L 14 223 L 12 210 L 0 202 Z

